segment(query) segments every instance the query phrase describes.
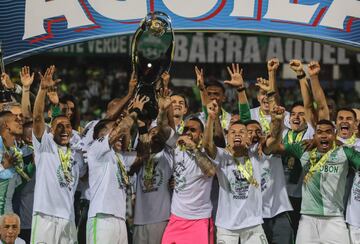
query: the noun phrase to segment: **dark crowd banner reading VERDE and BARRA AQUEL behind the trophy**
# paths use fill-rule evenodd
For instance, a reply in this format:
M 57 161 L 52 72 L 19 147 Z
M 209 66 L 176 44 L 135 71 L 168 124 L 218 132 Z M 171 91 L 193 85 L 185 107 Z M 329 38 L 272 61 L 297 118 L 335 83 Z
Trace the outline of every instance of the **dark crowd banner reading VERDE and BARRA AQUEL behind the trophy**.
M 129 58 L 130 35 L 114 36 L 58 47 L 47 52 L 57 56 L 118 56 Z M 264 63 L 277 57 L 281 63 L 292 59 L 322 64 L 360 63 L 360 54 L 343 47 L 293 38 L 234 33 L 177 33 L 174 61 L 177 63 Z

